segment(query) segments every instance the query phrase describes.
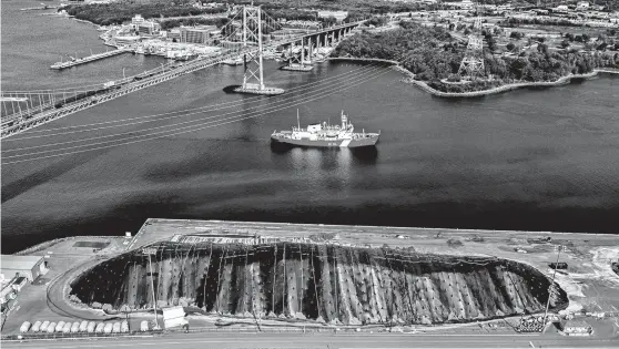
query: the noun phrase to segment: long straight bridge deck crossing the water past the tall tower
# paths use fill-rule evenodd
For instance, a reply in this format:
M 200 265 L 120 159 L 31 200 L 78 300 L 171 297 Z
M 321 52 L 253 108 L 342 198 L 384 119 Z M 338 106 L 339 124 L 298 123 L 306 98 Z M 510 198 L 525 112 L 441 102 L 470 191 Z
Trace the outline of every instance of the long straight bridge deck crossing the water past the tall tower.
M 337 30 L 342 30 L 342 29 L 347 29 L 347 28 L 354 28 L 359 25 L 361 23 L 363 23 L 364 21 L 358 21 L 358 22 L 353 22 L 353 23 L 345 23 L 342 25 L 336 25 L 336 27 L 331 27 L 327 29 L 323 29 L 319 31 L 315 31 L 312 33 L 306 33 L 306 34 L 302 34 L 295 38 L 290 38 L 290 39 L 283 39 L 280 41 L 274 41 L 274 42 L 270 42 L 266 43 L 264 45 L 264 49 L 275 49 L 278 45 L 285 45 L 285 44 L 291 44 L 293 42 L 300 41 L 302 38 L 307 38 L 307 37 L 313 37 L 313 35 L 319 35 L 319 34 L 326 34 L 333 31 L 337 31 Z M 43 112 L 39 113 L 39 114 L 33 114 L 30 115 L 31 117 L 28 119 L 23 119 L 21 117 L 21 120 L 16 120 L 16 117 L 11 117 L 9 116 L 8 119 L 4 119 L 2 121 L 2 132 L 0 134 L 0 138 L 4 138 L 8 137 L 10 135 L 33 129 L 35 126 L 45 124 L 48 122 L 51 122 L 53 120 L 77 113 L 79 111 L 89 109 L 91 106 L 118 99 L 120 96 L 123 96 L 125 94 L 129 94 L 131 92 L 135 92 L 159 83 L 162 83 L 164 81 L 184 75 L 184 74 L 189 74 L 215 64 L 219 64 L 225 60 L 229 59 L 234 59 L 239 55 L 242 54 L 247 54 L 247 53 L 255 53 L 257 51 L 256 47 L 252 47 L 252 48 L 245 48 L 242 49 L 241 51 L 235 51 L 235 52 L 227 52 L 224 53 L 222 55 L 215 57 L 215 58 L 204 58 L 204 59 L 196 59 L 193 61 L 190 61 L 189 63 L 185 63 L 184 65 L 181 65 L 179 68 L 172 69 L 168 72 L 163 72 L 150 78 L 145 78 L 143 80 L 139 80 L 135 82 L 129 82 L 125 84 L 120 85 L 118 89 L 112 90 L 110 92 L 103 93 L 103 94 L 99 94 L 99 95 L 94 95 L 94 96 L 90 96 L 90 97 L 84 97 L 82 100 L 79 100 L 77 102 L 63 105 L 62 107 L 59 109 L 48 109 L 48 110 L 43 110 Z M 17 124 L 13 124 L 16 123 Z

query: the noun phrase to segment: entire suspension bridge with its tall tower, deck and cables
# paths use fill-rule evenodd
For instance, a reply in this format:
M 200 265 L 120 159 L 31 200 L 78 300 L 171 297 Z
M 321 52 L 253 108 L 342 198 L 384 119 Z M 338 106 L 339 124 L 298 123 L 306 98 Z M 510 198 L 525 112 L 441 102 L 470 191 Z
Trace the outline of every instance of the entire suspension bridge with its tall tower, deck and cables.
M 213 45 L 221 49 L 221 54 L 199 57 L 183 65 L 175 63 L 143 73 L 85 86 L 37 91 L 2 91 L 0 101 L 1 133 L 0 138 L 22 133 L 48 122 L 77 113 L 79 111 L 118 99 L 125 94 L 189 74 L 226 60 L 243 58 L 243 83 L 236 90 L 241 93 L 280 94 L 284 91 L 265 85 L 263 75 L 263 53 L 276 48 L 301 48 L 312 52 L 337 43 L 364 21 L 342 23 L 329 28 L 291 33 L 284 38 L 272 39 L 271 32 L 282 29 L 282 24 L 260 7 L 245 6 L 222 27 L 222 38 Z M 291 50 L 292 51 L 292 50 Z M 304 63 L 302 59 L 301 64 Z

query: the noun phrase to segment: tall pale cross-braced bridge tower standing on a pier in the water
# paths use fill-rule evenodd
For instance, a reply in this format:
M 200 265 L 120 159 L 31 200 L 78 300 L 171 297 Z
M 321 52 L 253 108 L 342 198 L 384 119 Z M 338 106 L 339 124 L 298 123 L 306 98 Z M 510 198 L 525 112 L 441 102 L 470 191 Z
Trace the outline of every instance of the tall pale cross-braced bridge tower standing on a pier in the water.
M 245 73 L 243 75 L 243 85 L 235 89 L 241 93 L 253 94 L 282 94 L 283 89 L 266 88 L 264 85 L 264 65 L 263 65 L 263 11 L 260 6 L 243 7 L 243 53 L 245 62 Z M 250 47 L 257 47 L 257 50 L 251 50 Z

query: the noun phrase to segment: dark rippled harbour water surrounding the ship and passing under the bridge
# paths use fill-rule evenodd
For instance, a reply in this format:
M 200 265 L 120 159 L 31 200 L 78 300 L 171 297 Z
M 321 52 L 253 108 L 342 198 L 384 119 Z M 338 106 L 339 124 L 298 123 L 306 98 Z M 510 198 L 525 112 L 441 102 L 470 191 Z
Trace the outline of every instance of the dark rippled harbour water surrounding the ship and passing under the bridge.
M 104 82 L 164 62 L 125 54 L 52 71 L 61 53 L 104 47 L 95 27 L 19 11 L 30 6 L 2 2 L 4 90 Z M 227 93 L 242 72 L 195 72 L 3 141 L 2 253 L 136 232 L 148 217 L 617 232 L 617 76 L 445 100 L 375 65 L 298 73 L 267 62 L 267 84 L 291 94 Z M 380 142 L 273 150 L 271 133 L 296 124 L 297 107 L 302 124 L 345 110 Z M 101 122 L 116 127 L 63 129 Z M 20 154 L 29 156 L 8 158 Z M 31 157 L 45 158 L 7 163 Z

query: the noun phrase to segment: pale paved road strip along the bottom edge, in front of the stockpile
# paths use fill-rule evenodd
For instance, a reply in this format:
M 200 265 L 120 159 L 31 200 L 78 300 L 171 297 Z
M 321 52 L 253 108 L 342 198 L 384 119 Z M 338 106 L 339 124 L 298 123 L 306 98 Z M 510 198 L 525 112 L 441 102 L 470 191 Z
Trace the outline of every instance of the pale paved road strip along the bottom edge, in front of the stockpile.
M 2 348 L 619 348 L 619 339 L 541 337 L 539 335 L 402 333 L 173 333 L 165 337 L 3 342 Z

